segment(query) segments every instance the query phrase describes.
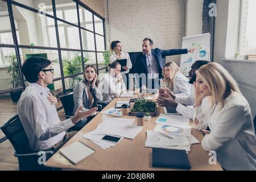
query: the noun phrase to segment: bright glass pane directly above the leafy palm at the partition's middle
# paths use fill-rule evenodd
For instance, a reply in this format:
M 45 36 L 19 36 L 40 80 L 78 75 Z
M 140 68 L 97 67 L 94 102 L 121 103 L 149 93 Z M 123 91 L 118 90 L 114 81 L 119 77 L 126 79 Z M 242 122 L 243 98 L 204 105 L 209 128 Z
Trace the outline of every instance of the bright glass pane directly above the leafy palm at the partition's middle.
M 57 21 L 57 23 L 60 37 L 60 47 L 81 49 L 79 39 L 79 28 L 70 26 L 66 23 L 59 25 L 60 21 Z

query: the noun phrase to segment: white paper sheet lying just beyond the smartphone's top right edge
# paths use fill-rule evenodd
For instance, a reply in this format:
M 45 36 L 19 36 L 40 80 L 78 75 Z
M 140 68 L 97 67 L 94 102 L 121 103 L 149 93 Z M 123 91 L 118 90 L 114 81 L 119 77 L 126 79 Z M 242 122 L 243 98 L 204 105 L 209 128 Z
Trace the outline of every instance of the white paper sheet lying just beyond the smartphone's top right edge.
M 124 123 L 113 122 L 106 125 L 102 130 L 102 134 L 118 135 L 129 139 L 134 139 L 143 129 L 143 126 L 127 125 Z

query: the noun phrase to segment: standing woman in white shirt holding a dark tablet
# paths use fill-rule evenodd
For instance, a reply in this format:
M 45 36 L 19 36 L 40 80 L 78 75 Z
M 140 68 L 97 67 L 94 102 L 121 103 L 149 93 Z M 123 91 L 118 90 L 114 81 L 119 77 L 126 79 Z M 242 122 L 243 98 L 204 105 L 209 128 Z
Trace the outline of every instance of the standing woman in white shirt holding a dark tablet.
M 123 44 L 119 40 L 114 40 L 110 44 L 110 51 L 113 52 L 113 55 L 109 57 L 109 63 L 111 64 L 114 61 L 119 59 L 127 59 L 127 66 L 122 67 L 122 69 L 125 69 L 125 71 L 121 73 L 129 73 L 130 69 L 133 67 L 133 64 L 131 64 L 129 53 L 122 52 L 122 50 L 123 50 Z

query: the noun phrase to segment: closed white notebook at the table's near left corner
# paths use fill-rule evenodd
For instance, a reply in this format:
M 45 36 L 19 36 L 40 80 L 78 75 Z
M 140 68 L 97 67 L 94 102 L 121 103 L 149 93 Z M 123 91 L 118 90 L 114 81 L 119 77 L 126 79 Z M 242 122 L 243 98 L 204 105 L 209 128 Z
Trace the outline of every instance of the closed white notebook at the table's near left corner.
M 60 154 L 70 160 L 73 164 L 79 163 L 81 160 L 92 155 L 95 150 L 86 146 L 84 143 L 77 141 L 67 147 L 61 148 Z

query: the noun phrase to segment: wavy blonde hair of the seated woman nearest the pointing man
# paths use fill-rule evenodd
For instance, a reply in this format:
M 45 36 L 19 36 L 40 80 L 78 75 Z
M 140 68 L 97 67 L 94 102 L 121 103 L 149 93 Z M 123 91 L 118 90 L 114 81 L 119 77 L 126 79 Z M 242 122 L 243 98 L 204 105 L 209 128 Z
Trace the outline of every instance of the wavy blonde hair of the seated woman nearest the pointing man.
M 169 67 L 170 68 L 170 78 L 166 77 L 166 74 L 164 73 L 164 68 Z M 180 71 L 180 68 L 174 61 L 170 61 L 166 63 L 163 67 L 162 75 L 163 75 L 163 82 L 164 84 L 167 84 L 167 88 L 170 88 L 171 90 L 174 89 L 174 77 L 177 74 L 177 72 Z

